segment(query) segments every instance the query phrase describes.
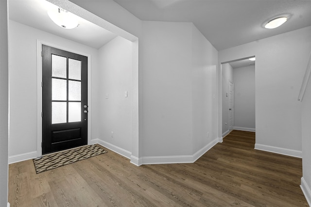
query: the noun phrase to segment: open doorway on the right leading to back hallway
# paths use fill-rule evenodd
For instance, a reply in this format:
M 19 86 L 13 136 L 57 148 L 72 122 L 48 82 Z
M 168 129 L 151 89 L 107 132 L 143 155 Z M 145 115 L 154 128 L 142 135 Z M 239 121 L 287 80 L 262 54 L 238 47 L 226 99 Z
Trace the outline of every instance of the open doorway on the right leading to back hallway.
M 222 136 L 256 131 L 255 56 L 222 63 Z

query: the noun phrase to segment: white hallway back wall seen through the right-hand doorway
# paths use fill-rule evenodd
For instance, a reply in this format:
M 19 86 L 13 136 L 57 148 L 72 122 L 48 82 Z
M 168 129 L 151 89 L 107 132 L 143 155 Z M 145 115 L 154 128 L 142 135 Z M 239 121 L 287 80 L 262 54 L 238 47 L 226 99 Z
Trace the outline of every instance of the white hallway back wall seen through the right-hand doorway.
M 255 130 L 255 65 L 233 69 L 234 127 Z

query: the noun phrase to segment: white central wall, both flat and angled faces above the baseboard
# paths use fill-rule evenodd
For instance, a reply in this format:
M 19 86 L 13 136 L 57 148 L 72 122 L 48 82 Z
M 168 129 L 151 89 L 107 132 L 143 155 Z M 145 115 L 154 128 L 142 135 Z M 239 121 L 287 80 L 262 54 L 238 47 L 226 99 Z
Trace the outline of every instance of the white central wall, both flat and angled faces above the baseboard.
M 140 44 L 143 157 L 185 161 L 217 140 L 217 50 L 192 23 L 143 21 Z

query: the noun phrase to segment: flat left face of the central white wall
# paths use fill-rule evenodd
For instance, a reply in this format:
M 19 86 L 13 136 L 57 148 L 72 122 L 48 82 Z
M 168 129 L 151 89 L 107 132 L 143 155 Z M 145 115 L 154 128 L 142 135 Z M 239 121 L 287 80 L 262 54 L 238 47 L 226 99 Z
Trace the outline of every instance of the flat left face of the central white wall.
M 192 154 L 191 28 L 191 23 L 143 21 L 143 156 Z

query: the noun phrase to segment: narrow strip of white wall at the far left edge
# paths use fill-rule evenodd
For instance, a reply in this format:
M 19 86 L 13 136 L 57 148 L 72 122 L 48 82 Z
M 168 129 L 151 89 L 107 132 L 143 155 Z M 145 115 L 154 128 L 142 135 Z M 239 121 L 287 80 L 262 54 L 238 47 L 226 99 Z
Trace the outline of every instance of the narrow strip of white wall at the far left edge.
M 0 206 L 8 203 L 8 14 L 0 0 Z

